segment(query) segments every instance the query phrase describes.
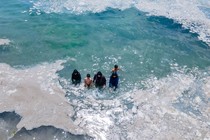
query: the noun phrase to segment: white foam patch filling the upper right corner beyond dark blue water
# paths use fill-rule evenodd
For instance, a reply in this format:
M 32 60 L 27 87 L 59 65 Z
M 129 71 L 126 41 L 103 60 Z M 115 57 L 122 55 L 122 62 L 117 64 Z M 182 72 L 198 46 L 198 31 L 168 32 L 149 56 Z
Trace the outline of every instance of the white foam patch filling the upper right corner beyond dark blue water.
M 191 32 L 198 33 L 199 39 L 210 45 L 210 19 L 199 8 L 209 5 L 208 1 L 141 1 L 136 7 L 150 15 L 165 16 L 182 24 Z

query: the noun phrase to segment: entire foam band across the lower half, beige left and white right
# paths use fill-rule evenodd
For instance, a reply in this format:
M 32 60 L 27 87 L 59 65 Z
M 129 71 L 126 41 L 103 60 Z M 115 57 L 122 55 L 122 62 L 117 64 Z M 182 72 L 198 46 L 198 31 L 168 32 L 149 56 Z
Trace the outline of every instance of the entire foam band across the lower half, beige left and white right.
M 203 77 L 194 69 L 186 74 L 185 68 L 172 65 L 175 72 L 145 80 L 145 89 L 106 99 L 110 97 L 108 91 L 71 87 L 65 79 L 61 83 L 66 82 L 68 88 L 62 85 L 62 89 L 56 75 L 63 68 L 62 62 L 27 69 L 0 64 L 0 112 L 20 114 L 23 118 L 18 129 L 52 125 L 74 134 L 87 133 L 97 140 L 210 138 L 208 73 Z M 65 92 L 76 98 L 68 102 Z M 176 107 L 180 102 L 190 104 L 191 109 Z M 193 110 L 200 113 L 194 114 Z

